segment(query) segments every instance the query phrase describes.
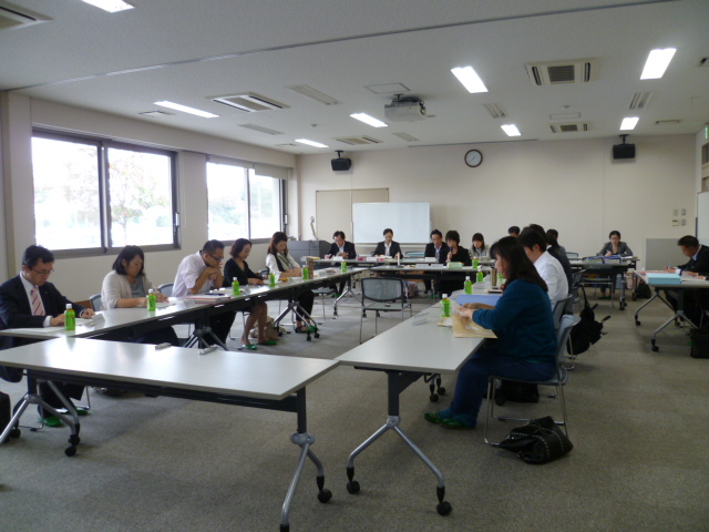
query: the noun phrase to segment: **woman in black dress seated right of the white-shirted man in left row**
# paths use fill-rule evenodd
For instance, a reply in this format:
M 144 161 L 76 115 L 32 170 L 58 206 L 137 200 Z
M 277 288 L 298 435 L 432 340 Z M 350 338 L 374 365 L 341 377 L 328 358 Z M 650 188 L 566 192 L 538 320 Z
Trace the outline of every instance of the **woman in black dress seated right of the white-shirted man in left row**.
M 232 245 L 232 250 L 229 258 L 224 265 L 224 286 L 229 287 L 233 285 L 236 279 L 239 285 L 248 286 L 248 285 L 263 285 L 264 279 L 261 279 L 258 275 L 251 272 L 251 268 L 248 267 L 246 259 L 251 253 L 251 241 L 247 241 L 246 238 L 237 238 L 234 241 L 234 245 Z M 245 349 L 254 350 L 256 346 L 250 342 L 248 338 L 249 331 L 254 328 L 255 324 L 258 324 L 258 344 L 261 346 L 275 346 L 278 342 L 276 340 L 269 340 L 266 338 L 265 329 L 266 329 L 266 320 L 268 318 L 268 305 L 265 301 L 256 303 L 256 299 L 253 299 L 253 305 L 249 308 L 245 308 L 244 311 L 249 313 L 248 318 L 246 318 L 246 324 L 244 325 L 244 335 L 242 336 L 242 347 Z

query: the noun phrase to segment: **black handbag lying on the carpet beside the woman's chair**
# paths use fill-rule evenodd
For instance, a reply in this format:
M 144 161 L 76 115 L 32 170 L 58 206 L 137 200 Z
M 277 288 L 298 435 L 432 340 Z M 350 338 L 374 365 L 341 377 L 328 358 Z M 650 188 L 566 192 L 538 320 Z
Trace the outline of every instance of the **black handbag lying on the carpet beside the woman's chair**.
M 526 463 L 546 463 L 563 457 L 574 448 L 554 418 L 534 419 L 512 432 L 497 447 L 516 452 Z

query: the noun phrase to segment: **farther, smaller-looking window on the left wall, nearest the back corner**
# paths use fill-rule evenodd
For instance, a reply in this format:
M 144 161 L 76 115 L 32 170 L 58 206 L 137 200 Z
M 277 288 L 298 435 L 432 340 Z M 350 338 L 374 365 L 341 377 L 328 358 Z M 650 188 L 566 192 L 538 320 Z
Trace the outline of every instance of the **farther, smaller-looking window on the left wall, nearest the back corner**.
M 207 162 L 210 239 L 270 238 L 275 232 L 282 231 L 282 181 L 260 175 L 268 174 L 268 170 L 253 166 L 216 157 Z M 280 175 L 286 175 L 285 168 L 279 170 Z

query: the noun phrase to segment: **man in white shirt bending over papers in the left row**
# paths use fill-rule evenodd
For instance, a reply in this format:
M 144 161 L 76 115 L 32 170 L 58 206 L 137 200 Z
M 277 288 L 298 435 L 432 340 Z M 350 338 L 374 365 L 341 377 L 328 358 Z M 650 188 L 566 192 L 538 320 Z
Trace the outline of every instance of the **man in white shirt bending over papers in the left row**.
M 187 255 L 177 267 L 173 297 L 206 294 L 212 289 L 222 288 L 224 274 L 220 265 L 223 262 L 224 243 L 220 241 L 208 241 L 201 252 Z M 209 317 L 209 327 L 222 344 L 226 344 L 235 316 L 236 313 L 229 311 Z M 207 344 L 214 344 L 214 339 L 208 335 L 204 339 Z

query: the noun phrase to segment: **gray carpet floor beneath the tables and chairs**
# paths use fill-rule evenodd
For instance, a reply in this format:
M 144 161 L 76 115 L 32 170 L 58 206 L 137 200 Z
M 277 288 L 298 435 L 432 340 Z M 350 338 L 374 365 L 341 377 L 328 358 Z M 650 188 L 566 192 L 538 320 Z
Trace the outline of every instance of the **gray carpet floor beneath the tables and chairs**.
M 315 468 L 306 463 L 291 530 L 709 531 L 709 360 L 690 358 L 689 337 L 672 326 L 660 335 L 660 350 L 650 350 L 653 330 L 668 316 L 658 301 L 643 311 L 640 327 L 633 315 L 643 301 L 626 310 L 598 303 L 597 317 L 612 319 L 571 375 L 575 448 L 555 462 L 530 466 L 486 446 L 482 415 L 473 431 L 425 422 L 424 412 L 449 403 L 453 376 L 444 377 L 449 391 L 436 405 L 423 382 L 402 393 L 401 427 L 443 473 L 448 516 L 435 510 L 435 478 L 394 433 L 357 458 L 361 492 L 347 492 L 349 453 L 386 421 L 386 377 L 341 367 L 315 381 L 309 431 L 333 497 L 318 502 Z M 430 304 L 418 299 L 414 310 Z M 276 316 L 278 304 L 270 305 Z M 335 320 L 328 300 L 319 339 L 286 335 L 268 352 L 337 357 L 358 342 L 357 305 L 349 300 Z M 319 304 L 315 313 L 322 313 Z M 386 315 L 380 330 L 398 323 Z M 239 327 L 237 318 L 236 338 Z M 13 401 L 23 386 L 0 382 Z M 91 401 L 75 457 L 63 453 L 65 429 L 24 429 L 0 448 L 0 530 L 278 530 L 299 451 L 289 440 L 295 416 L 138 393 L 92 393 Z M 559 417 L 558 399 L 514 409 Z M 34 422 L 34 412 L 25 413 L 23 424 Z M 517 424 L 495 421 L 494 436 Z

